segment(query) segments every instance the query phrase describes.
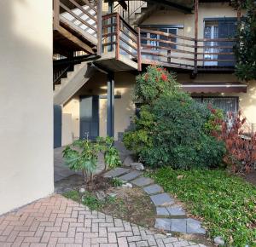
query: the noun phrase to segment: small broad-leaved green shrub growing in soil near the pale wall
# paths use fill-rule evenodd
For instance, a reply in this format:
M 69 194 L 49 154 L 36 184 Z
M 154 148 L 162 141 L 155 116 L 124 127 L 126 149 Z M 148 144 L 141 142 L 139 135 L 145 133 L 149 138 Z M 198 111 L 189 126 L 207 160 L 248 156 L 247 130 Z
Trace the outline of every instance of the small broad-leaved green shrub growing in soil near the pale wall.
M 96 170 L 98 152 L 102 150 L 101 143 L 90 140 L 74 141 L 71 146 L 63 150 L 63 158 L 69 169 L 82 170 L 84 184 L 92 181 L 93 173 Z

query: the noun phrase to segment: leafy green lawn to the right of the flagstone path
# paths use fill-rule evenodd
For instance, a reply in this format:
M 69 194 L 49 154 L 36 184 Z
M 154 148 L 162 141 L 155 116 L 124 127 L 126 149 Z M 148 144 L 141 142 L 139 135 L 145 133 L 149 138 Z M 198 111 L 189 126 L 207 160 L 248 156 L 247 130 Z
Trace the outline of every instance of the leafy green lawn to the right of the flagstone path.
M 177 177 L 178 175 L 183 175 Z M 256 246 L 256 187 L 224 170 L 161 168 L 150 176 L 203 218 L 210 237 L 229 246 Z

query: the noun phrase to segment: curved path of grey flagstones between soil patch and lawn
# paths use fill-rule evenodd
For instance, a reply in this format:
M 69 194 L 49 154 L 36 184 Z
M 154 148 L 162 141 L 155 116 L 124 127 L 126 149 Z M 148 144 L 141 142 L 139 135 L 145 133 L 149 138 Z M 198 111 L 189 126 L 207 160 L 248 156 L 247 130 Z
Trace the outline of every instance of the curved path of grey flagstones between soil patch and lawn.
M 122 181 L 129 181 L 137 187 L 143 187 L 155 206 L 155 228 L 173 233 L 206 233 L 200 221 L 187 217 L 175 198 L 164 192 L 162 187 L 154 183 L 154 180 L 144 177 L 142 171 L 119 167 L 108 171 L 104 176 L 116 177 Z

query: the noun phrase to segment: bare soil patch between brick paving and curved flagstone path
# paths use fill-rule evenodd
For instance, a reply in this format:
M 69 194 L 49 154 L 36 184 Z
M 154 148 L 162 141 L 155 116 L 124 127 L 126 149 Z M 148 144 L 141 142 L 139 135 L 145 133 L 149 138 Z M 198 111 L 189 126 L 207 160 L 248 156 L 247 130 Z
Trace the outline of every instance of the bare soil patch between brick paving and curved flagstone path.
M 80 188 L 84 188 L 85 192 L 79 192 Z M 102 198 L 98 198 L 99 192 Z M 113 187 L 112 179 L 96 175 L 92 183 L 69 187 L 63 195 L 92 210 L 99 210 L 143 227 L 154 227 L 154 205 L 140 187 Z

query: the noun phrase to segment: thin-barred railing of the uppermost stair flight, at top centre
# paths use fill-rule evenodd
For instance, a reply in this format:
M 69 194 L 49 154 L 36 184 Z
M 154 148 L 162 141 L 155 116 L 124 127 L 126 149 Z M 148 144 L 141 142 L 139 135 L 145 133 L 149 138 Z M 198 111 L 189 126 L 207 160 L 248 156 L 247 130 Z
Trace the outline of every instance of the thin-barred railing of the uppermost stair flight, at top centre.
M 130 25 L 131 19 L 134 19 L 135 13 L 141 12 L 140 9 L 147 6 L 146 1 L 125 1 L 127 9 L 124 9 L 119 3 L 113 7 L 113 11 L 117 12 Z

